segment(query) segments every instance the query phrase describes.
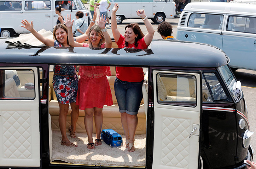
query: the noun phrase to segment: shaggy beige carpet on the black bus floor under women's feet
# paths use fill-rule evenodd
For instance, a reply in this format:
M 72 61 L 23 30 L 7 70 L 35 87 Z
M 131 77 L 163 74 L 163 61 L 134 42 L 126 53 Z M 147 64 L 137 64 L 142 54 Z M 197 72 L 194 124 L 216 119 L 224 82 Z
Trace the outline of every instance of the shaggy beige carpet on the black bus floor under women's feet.
M 67 133 L 68 135 L 68 133 Z M 146 154 L 146 134 L 135 136 L 135 151 L 127 152 L 127 149 L 111 148 L 106 143 L 95 146 L 95 150 L 87 149 L 88 138 L 86 133 L 76 133 L 78 138 L 69 138 L 71 142 L 76 143 L 77 147 L 67 147 L 60 144 L 60 131 L 52 131 L 52 158 L 72 164 L 88 164 L 88 165 L 111 165 L 111 166 L 145 166 Z M 123 144 L 125 144 L 125 136 L 121 134 Z M 95 139 L 95 134 L 93 134 Z

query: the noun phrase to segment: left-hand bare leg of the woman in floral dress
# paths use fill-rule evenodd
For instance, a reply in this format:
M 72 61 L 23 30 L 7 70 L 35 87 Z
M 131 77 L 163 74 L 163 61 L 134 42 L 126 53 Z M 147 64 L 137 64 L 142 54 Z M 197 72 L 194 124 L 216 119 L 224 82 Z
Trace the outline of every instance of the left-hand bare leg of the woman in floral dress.
M 70 143 L 67 135 L 66 135 L 66 121 L 67 121 L 67 114 L 69 111 L 69 104 L 60 104 L 59 103 L 59 128 L 62 135 L 62 145 L 70 146 Z

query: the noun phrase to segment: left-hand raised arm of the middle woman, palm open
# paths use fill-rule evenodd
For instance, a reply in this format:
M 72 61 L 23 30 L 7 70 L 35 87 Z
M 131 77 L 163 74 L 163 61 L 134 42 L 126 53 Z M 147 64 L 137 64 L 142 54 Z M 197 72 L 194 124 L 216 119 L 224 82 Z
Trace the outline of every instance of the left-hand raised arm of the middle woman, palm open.
M 78 42 L 75 42 L 74 41 L 74 37 L 73 37 L 73 33 L 72 33 L 72 26 L 73 26 L 73 23 L 74 23 L 74 20 L 73 19 L 71 21 L 71 14 L 67 14 L 67 17 L 65 16 L 65 24 L 66 26 L 68 27 L 68 39 L 69 39 L 69 45 L 72 46 L 72 47 L 83 47 L 83 44 L 82 43 L 78 43 Z

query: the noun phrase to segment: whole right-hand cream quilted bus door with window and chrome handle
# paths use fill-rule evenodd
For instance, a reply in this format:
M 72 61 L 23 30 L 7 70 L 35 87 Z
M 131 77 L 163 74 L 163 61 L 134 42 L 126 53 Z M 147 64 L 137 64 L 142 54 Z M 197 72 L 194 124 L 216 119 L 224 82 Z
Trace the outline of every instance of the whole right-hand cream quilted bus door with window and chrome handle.
M 198 168 L 201 86 L 200 72 L 153 71 L 152 168 Z

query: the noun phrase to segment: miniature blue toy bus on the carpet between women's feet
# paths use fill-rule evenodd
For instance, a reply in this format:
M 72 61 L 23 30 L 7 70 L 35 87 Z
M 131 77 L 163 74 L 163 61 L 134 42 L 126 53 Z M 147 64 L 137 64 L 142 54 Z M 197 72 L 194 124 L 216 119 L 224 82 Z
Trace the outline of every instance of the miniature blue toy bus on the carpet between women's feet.
M 100 137 L 107 145 L 112 148 L 121 147 L 123 145 L 123 140 L 120 134 L 112 129 L 104 129 L 101 131 Z

